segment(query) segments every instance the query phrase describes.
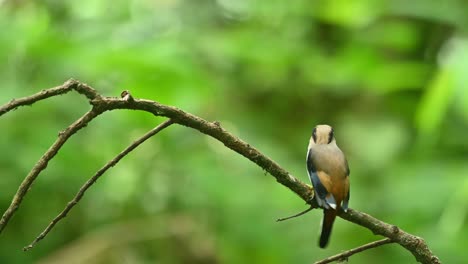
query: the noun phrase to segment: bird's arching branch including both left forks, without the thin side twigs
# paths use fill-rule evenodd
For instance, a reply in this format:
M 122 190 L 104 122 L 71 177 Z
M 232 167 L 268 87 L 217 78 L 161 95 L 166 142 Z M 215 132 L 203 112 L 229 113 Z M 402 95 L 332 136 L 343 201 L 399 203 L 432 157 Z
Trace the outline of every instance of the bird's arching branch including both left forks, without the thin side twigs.
M 152 113 L 155 116 L 164 116 L 171 119 L 174 123 L 193 128 L 201 133 L 211 136 L 222 142 L 226 147 L 234 150 L 263 168 L 271 174 L 276 181 L 288 187 L 312 207 L 317 207 L 315 200 L 311 199 L 313 198 L 313 189 L 309 185 L 292 176 L 276 162 L 259 152 L 256 148 L 226 131 L 221 127 L 219 122 L 208 122 L 178 108 L 163 105 L 155 101 L 134 99 L 131 96 L 125 96 L 126 98 L 124 99 L 117 97 L 103 97 L 92 87 L 75 80 L 69 80 L 61 86 L 43 90 L 40 93 L 29 97 L 10 101 L 6 105 L 0 107 L 0 116 L 11 110 L 17 109 L 20 106 L 31 105 L 37 101 L 64 94 L 71 90 L 75 90 L 86 96 L 89 103 L 92 105 L 92 109 L 59 134 L 57 141 L 41 157 L 28 176 L 23 180 L 18 192 L 12 200 L 11 205 L 5 211 L 2 219 L 0 220 L 0 234 L 15 211 L 18 209 L 22 199 L 27 194 L 28 189 L 31 187 L 35 179 L 38 177 L 40 172 L 47 167 L 47 163 L 55 156 L 66 140 L 78 130 L 85 127 L 98 115 L 106 111 L 117 109 L 140 110 Z M 400 244 L 410 251 L 415 256 L 416 260 L 421 263 L 440 263 L 440 260 L 430 251 L 422 238 L 411 235 L 394 225 L 387 224 L 368 214 L 361 213 L 356 210 L 349 209 L 347 213 L 340 213 L 339 216 L 345 220 L 363 226 L 375 234 L 388 237 L 395 243 Z

